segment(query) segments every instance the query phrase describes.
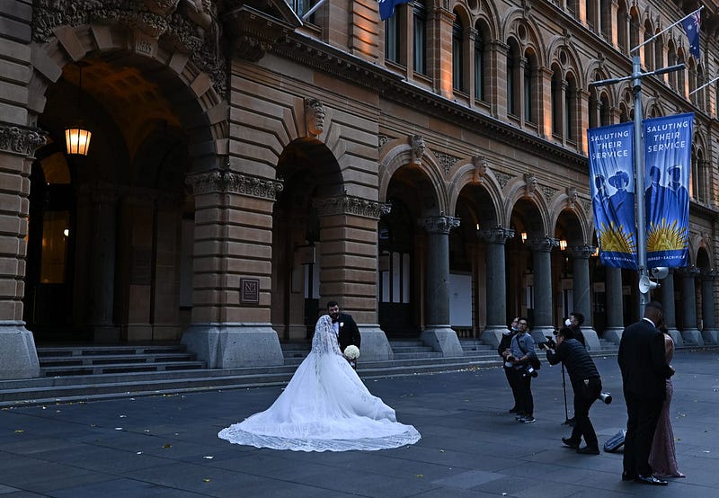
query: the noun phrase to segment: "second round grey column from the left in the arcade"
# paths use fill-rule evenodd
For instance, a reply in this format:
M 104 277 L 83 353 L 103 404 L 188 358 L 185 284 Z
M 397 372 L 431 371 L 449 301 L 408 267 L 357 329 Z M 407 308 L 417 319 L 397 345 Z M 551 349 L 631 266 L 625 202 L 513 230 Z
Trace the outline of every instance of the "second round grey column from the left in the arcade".
M 478 234 L 487 243 L 487 326 L 482 332 L 482 342 L 497 347 L 502 333 L 507 330 L 507 262 L 504 245 L 514 236 L 510 228 L 496 227 Z

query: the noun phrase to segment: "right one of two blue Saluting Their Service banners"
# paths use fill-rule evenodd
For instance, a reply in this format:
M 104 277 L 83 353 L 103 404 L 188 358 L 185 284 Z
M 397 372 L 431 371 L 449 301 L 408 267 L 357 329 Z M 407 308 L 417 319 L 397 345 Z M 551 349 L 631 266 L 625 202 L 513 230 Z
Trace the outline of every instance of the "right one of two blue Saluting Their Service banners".
M 693 124 L 693 113 L 644 120 L 648 268 L 688 265 Z

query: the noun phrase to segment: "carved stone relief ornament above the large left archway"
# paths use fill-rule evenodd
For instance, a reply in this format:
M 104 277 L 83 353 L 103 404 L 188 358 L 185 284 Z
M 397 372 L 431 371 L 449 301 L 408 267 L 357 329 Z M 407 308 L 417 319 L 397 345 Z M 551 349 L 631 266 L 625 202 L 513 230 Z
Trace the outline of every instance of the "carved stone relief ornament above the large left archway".
M 127 26 L 188 54 L 217 93 L 225 94 L 226 58 L 221 54 L 217 6 L 212 0 L 36 0 L 34 4 L 32 40 L 47 42 L 63 25 Z

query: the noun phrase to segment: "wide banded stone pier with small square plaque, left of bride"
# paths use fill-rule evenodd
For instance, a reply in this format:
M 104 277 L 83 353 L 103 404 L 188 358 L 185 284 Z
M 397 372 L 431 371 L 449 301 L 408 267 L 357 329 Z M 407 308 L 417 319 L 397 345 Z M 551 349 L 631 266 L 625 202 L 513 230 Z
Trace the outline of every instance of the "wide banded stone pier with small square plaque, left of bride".
M 281 365 L 270 316 L 272 206 L 282 183 L 219 169 L 191 173 L 187 183 L 195 244 L 192 323 L 182 343 L 209 369 Z

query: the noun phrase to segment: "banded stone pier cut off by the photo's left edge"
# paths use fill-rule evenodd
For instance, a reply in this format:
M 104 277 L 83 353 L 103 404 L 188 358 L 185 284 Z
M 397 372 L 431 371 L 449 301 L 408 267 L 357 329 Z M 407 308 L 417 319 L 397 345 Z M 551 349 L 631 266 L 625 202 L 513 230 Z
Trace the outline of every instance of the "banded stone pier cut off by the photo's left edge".
M 9 113 L 11 106 L 5 107 Z M 36 129 L 0 125 L 0 379 L 40 377 L 35 340 L 22 320 L 22 298 L 32 154 L 44 144 Z

